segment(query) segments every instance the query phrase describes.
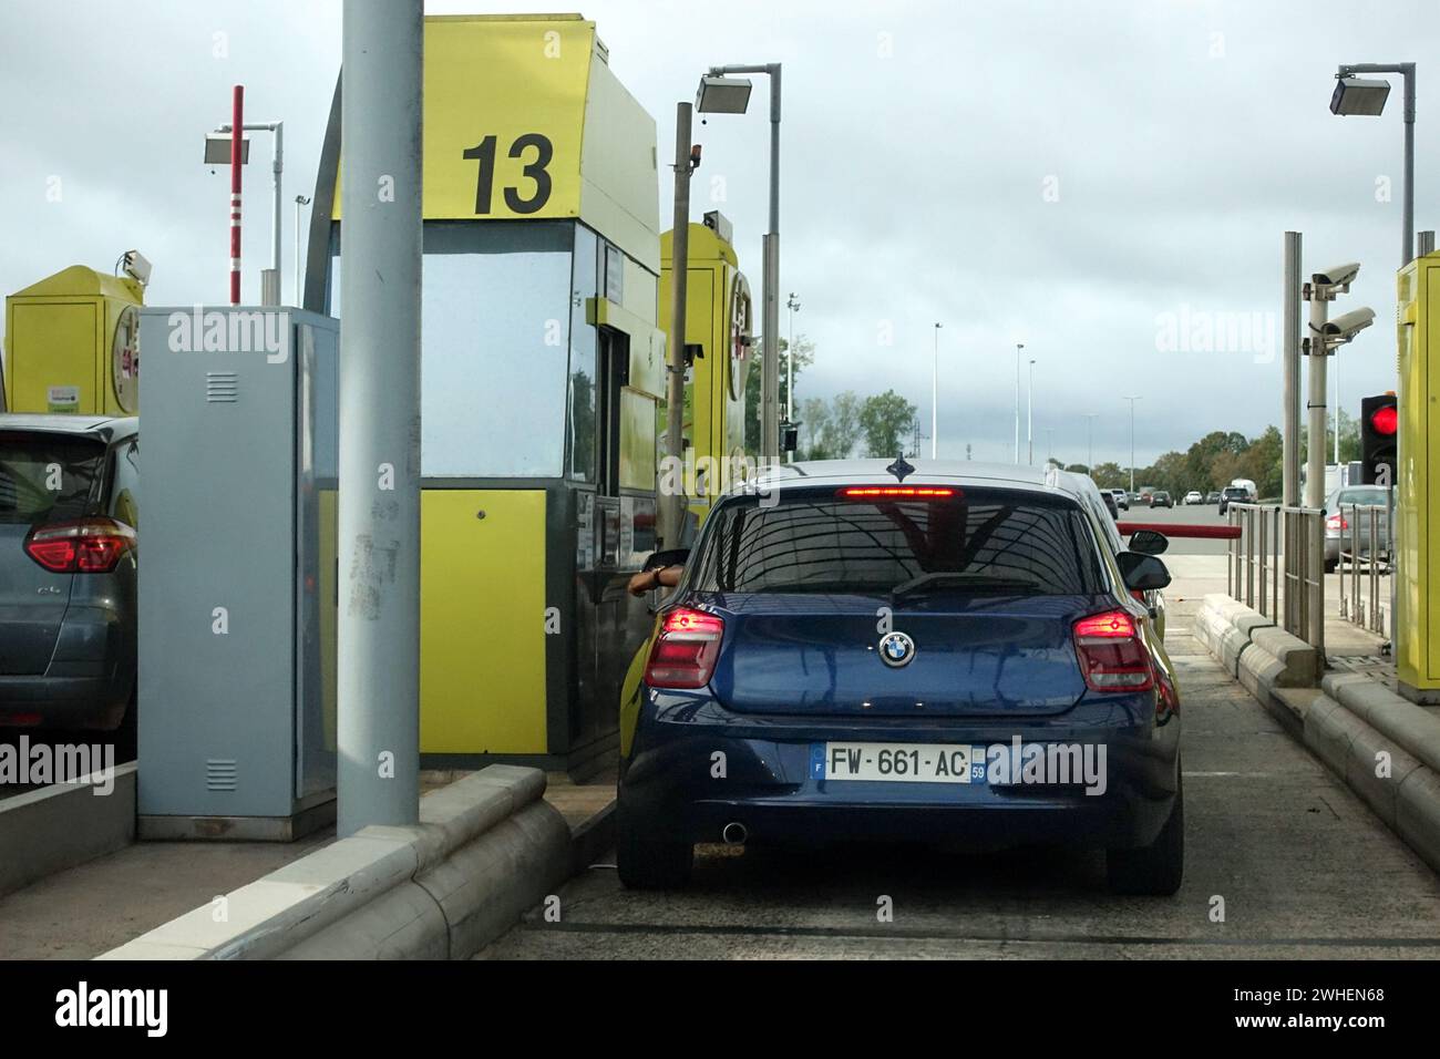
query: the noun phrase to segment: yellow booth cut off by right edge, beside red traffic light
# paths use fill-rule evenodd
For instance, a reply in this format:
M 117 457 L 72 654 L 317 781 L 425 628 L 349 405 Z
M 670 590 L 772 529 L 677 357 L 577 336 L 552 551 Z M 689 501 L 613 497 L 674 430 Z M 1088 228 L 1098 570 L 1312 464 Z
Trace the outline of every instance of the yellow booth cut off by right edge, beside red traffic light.
M 1397 277 L 1400 467 L 1395 474 L 1395 676 L 1417 702 L 1440 702 L 1440 254 Z

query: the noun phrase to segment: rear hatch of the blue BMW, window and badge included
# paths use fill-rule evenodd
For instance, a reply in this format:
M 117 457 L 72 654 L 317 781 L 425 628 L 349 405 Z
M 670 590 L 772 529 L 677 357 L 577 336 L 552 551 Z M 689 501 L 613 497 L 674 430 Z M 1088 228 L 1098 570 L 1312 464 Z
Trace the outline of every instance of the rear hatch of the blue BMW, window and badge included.
M 739 713 L 1063 713 L 1086 692 L 1071 628 L 1116 605 L 1064 494 L 825 490 L 711 520 L 691 599 L 724 621 L 710 687 Z

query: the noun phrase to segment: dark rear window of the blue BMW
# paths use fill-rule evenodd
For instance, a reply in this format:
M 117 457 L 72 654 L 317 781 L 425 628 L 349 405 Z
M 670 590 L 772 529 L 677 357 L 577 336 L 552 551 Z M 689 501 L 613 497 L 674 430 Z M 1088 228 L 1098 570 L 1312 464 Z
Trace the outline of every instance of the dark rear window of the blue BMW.
M 1044 493 L 976 488 L 937 501 L 786 491 L 717 507 L 691 588 L 719 592 L 876 594 L 924 575 L 971 595 L 1100 591 L 1094 537 L 1080 506 Z

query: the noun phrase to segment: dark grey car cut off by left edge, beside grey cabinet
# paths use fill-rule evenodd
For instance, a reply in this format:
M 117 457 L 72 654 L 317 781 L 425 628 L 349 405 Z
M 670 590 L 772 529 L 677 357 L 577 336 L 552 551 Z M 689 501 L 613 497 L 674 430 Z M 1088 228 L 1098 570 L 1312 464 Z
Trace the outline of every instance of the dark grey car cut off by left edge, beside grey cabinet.
M 0 414 L 0 730 L 132 730 L 137 419 Z

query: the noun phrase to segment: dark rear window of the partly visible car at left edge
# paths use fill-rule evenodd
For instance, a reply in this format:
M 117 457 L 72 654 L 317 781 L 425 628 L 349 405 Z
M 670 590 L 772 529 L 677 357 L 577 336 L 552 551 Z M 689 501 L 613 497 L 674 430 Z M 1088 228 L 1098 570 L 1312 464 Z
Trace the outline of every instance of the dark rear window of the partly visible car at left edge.
M 0 523 L 30 526 L 89 514 L 104 468 L 99 441 L 0 432 Z

